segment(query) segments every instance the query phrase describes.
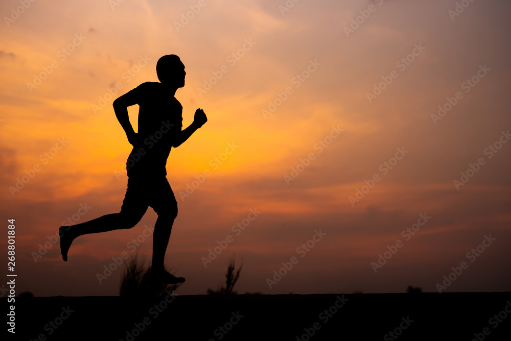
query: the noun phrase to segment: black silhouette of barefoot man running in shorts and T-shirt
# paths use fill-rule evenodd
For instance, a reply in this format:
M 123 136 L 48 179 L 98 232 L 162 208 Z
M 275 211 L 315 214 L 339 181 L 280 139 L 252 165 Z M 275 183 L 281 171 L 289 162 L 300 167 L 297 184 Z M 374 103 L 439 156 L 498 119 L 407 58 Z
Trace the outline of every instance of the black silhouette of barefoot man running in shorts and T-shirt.
M 167 181 L 165 165 L 172 147 L 186 141 L 207 121 L 204 111 L 195 111 L 193 123 L 182 129 L 183 107 L 174 97 L 178 88 L 184 86 L 184 64 L 176 55 L 161 57 L 156 63 L 156 74 L 160 83 L 146 82 L 120 96 L 113 102 L 119 123 L 133 145 L 126 171 L 128 188 L 121 212 L 103 215 L 89 222 L 61 226 L 60 252 L 67 261 L 67 251 L 73 240 L 81 235 L 135 226 L 147 208 L 151 206 L 158 218 L 153 232 L 153 258 L 151 275 L 153 280 L 175 284 L 184 282 L 165 270 L 165 252 L 170 232 L 177 216 L 177 201 Z M 129 121 L 127 107 L 138 104 L 138 133 Z

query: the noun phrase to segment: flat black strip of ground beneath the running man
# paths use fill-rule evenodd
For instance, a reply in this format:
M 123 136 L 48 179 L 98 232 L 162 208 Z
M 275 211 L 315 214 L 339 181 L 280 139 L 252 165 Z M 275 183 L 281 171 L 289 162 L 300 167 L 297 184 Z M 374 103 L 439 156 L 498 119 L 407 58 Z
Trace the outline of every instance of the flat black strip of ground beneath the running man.
M 511 313 L 505 309 L 511 311 L 511 293 L 33 297 L 16 298 L 16 336 L 491 341 L 511 335 Z

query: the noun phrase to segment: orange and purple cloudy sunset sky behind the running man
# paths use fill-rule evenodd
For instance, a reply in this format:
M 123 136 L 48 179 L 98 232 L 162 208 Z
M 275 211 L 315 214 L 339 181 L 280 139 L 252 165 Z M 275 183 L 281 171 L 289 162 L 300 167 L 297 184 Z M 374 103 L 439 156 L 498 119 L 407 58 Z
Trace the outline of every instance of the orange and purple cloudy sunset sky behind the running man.
M 444 291 L 511 290 L 508 2 L 20 3 L 0 5 L 0 248 L 15 218 L 18 293 L 114 296 L 124 265 L 98 279 L 112 257 L 150 262 L 151 208 L 67 262 L 56 235 L 119 212 L 131 145 L 112 102 L 168 54 L 184 128 L 208 117 L 167 162 L 179 294 L 216 289 L 233 255 L 239 293 L 437 292 L 463 261 Z

